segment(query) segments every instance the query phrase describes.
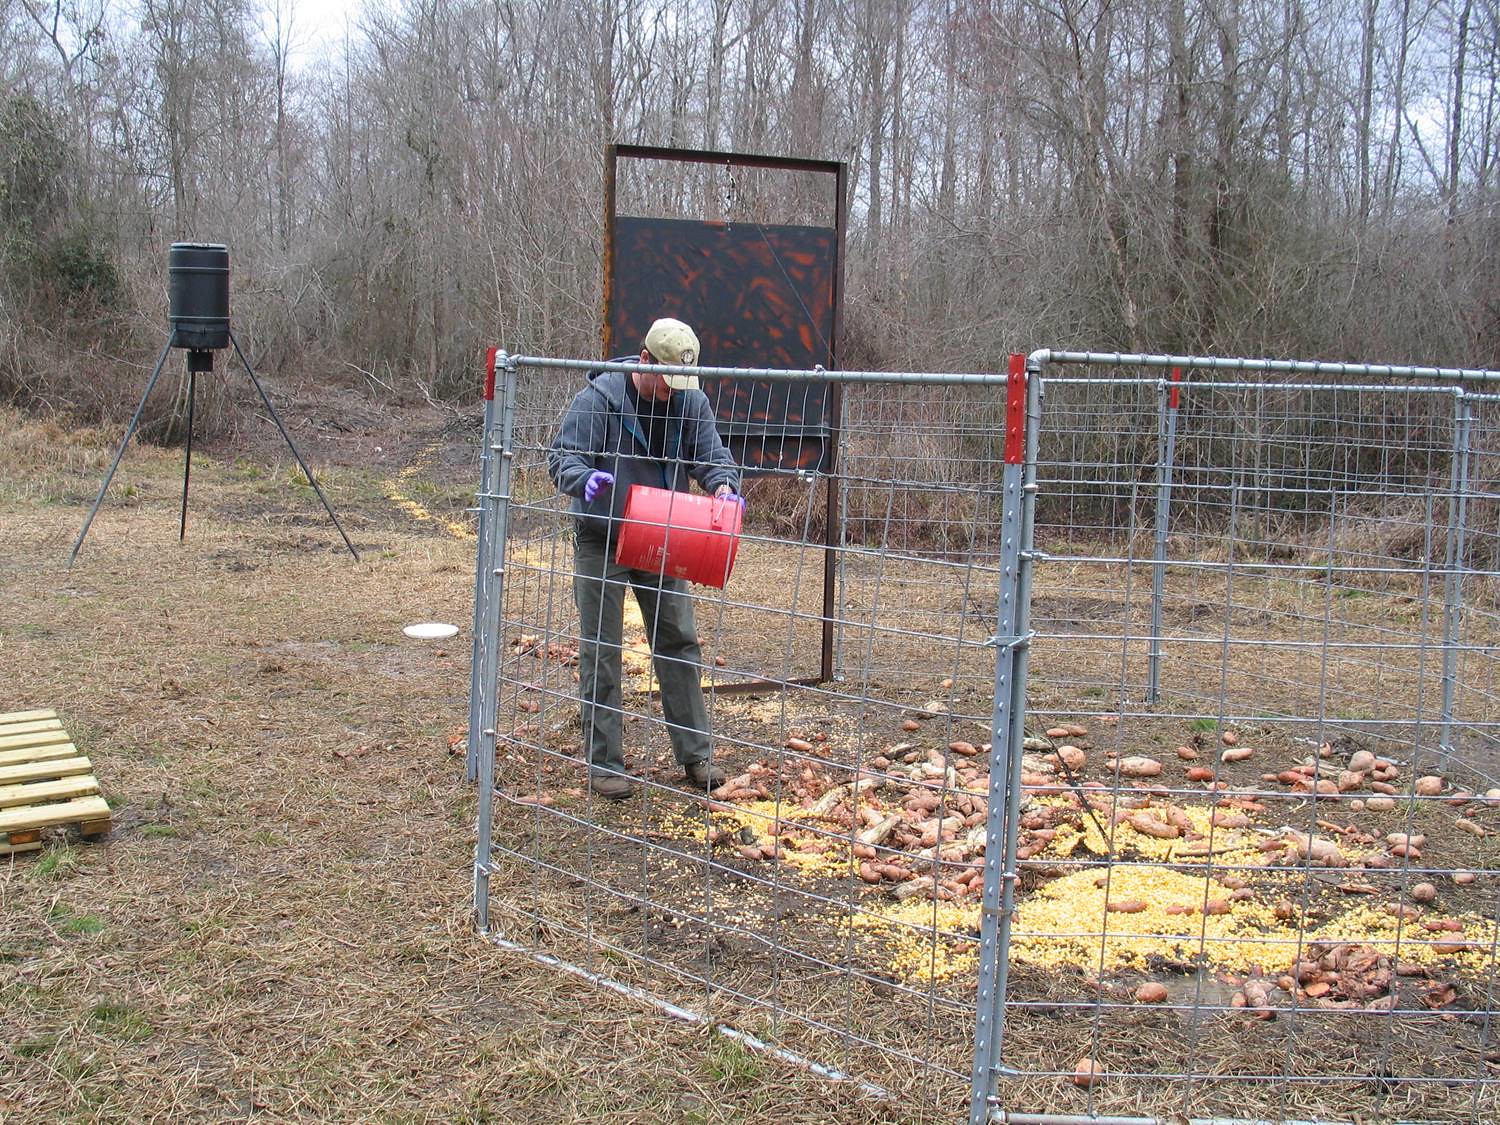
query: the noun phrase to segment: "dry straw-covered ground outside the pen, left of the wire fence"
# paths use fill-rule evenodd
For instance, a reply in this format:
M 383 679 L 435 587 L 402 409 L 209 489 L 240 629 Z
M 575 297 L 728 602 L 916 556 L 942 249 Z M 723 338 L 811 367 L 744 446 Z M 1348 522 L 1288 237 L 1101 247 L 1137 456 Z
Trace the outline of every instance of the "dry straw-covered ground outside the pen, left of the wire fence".
M 114 810 L 0 861 L 0 1119 L 912 1119 L 476 936 L 470 436 L 284 405 L 360 562 L 248 423 L 182 544 L 180 454 L 132 447 L 69 570 L 117 435 L 0 412 L 0 711 Z

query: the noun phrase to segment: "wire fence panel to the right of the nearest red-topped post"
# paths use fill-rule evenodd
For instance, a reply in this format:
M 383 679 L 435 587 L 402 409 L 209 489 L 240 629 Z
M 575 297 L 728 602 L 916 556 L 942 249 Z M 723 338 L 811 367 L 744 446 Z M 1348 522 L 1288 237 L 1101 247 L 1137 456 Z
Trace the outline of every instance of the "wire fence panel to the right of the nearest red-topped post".
M 1478 396 L 1100 360 L 1046 380 L 998 1104 L 1494 1120 Z

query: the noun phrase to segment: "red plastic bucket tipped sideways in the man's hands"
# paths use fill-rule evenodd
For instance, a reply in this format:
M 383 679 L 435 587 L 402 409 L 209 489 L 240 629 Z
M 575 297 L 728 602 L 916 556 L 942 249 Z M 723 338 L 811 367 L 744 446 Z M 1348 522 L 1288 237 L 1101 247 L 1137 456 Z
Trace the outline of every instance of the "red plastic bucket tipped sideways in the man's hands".
M 615 562 L 722 590 L 735 567 L 742 518 L 738 500 L 632 484 Z

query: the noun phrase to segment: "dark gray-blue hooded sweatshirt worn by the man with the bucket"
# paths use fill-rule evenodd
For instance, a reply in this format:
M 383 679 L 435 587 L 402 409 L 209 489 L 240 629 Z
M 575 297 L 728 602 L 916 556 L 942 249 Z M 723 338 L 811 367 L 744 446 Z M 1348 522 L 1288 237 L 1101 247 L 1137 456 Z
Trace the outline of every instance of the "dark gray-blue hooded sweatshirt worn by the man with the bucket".
M 548 452 L 548 472 L 560 490 L 573 496 L 579 534 L 594 538 L 606 538 L 620 522 L 632 484 L 687 492 L 688 480 L 696 480 L 708 494 L 722 484 L 740 490 L 740 468 L 718 438 L 708 396 L 700 390 L 672 392 L 666 459 L 657 460 L 626 394 L 627 378 L 630 374 L 622 370 L 591 370 Z M 612 472 L 615 483 L 585 504 L 584 484 L 596 470 Z

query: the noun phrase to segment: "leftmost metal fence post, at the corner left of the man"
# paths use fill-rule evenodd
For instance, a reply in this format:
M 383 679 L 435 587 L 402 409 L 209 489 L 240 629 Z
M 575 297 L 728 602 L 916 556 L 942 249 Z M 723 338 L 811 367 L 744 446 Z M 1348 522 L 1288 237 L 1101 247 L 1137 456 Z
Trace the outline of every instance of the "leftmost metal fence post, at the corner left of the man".
M 484 598 L 484 634 L 480 658 L 478 708 L 478 831 L 474 843 L 474 914 L 482 933 L 489 932 L 489 864 L 495 806 L 495 729 L 500 692 L 495 676 L 500 663 L 501 606 L 506 597 L 506 520 L 510 514 L 510 466 L 514 460 L 516 430 L 516 362 L 500 352 L 495 363 L 502 374 L 500 404 L 495 406 L 498 424 L 484 441 L 490 442 L 489 477 L 482 502 L 490 512 L 489 555 L 484 560 L 489 594 Z

